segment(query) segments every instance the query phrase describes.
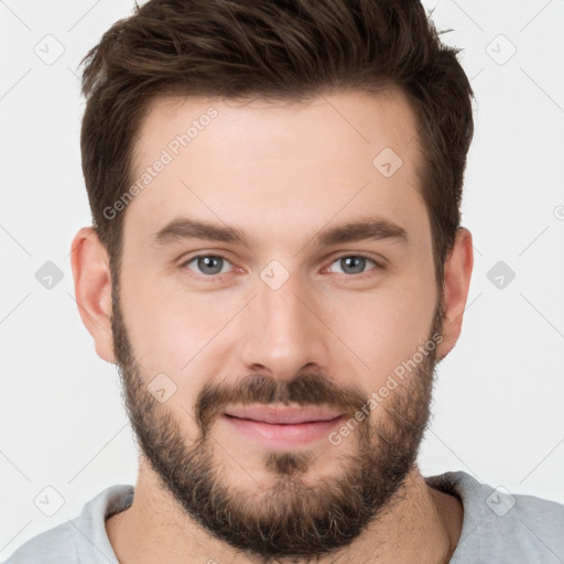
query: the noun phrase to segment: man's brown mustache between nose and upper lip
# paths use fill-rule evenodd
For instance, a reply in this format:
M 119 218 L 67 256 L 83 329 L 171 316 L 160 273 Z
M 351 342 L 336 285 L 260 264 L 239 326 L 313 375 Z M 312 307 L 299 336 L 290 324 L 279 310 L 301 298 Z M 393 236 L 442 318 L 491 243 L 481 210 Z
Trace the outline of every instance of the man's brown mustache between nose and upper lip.
M 249 375 L 235 382 L 206 383 L 196 401 L 196 423 L 206 436 L 215 416 L 228 405 L 290 403 L 302 406 L 336 408 L 354 416 L 368 397 L 356 386 L 337 386 L 319 372 L 297 375 L 279 380 L 263 375 Z

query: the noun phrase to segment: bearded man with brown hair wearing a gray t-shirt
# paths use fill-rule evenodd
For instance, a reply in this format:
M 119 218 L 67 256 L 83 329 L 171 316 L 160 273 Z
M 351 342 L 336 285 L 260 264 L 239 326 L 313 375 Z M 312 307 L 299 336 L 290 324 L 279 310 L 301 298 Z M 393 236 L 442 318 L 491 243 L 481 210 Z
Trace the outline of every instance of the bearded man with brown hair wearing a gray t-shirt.
M 151 0 L 84 93 L 76 297 L 139 477 L 10 564 L 564 562 L 562 506 L 416 466 L 473 269 L 422 6 Z

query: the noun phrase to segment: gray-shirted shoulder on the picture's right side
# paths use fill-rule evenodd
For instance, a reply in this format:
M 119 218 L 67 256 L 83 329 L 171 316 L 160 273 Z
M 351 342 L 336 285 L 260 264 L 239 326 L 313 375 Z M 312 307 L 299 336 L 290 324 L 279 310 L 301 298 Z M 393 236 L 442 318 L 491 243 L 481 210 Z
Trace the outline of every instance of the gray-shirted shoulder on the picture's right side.
M 494 488 L 464 471 L 433 476 L 427 484 L 455 495 L 464 507 L 453 564 L 564 562 L 563 505 Z

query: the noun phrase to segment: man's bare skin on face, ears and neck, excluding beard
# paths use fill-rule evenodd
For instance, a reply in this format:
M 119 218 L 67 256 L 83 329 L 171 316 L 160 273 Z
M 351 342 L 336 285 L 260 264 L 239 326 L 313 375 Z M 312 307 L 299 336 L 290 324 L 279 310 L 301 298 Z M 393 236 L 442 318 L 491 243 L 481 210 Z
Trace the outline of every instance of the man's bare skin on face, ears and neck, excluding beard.
M 288 383 L 317 369 L 368 397 L 429 338 L 440 297 L 429 216 L 417 191 L 415 121 L 401 93 L 334 93 L 306 104 L 161 98 L 139 131 L 135 173 L 212 106 L 218 116 L 133 198 L 123 225 L 120 311 L 128 338 L 145 383 L 162 372 L 175 382 L 176 392 L 159 413 L 175 417 L 186 445 L 198 437 L 194 406 L 210 382 L 227 386 L 260 372 Z M 372 165 L 384 148 L 403 161 L 390 177 Z M 409 243 L 316 245 L 318 231 L 366 217 L 367 210 L 403 227 Z M 236 227 L 249 243 L 151 245 L 151 235 L 182 214 Z M 203 280 L 196 262 L 186 264 L 200 253 L 228 259 L 218 281 Z M 368 261 L 364 273 L 344 273 L 337 259 L 359 253 L 386 268 Z M 289 273 L 275 291 L 260 278 L 272 260 Z M 117 362 L 109 259 L 91 228 L 73 240 L 72 265 L 96 351 Z M 471 269 L 471 235 L 460 228 L 445 263 L 437 360 L 459 336 Z M 386 410 L 373 410 L 370 423 L 376 429 L 384 416 Z M 210 430 L 224 484 L 254 496 L 259 510 L 257 484 L 265 496 L 275 480 L 264 447 L 219 422 Z M 343 457 L 361 454 L 358 448 L 355 436 L 338 446 L 310 445 L 315 462 L 301 479 L 311 487 L 337 479 L 345 471 Z M 318 562 L 448 561 L 463 510 L 454 497 L 430 488 L 416 465 L 402 495 L 384 509 L 362 534 Z M 106 527 L 122 563 L 261 562 L 199 528 L 161 486 L 142 452 L 133 505 Z

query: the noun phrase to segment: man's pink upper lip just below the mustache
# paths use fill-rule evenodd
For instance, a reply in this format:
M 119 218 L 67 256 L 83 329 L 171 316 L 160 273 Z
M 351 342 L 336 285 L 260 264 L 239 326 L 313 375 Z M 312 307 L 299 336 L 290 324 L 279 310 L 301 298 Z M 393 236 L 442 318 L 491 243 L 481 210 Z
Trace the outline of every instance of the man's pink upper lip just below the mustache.
M 332 421 L 343 415 L 343 412 L 327 408 L 288 408 L 272 405 L 242 405 L 225 410 L 225 415 L 241 420 L 269 423 L 271 425 L 297 425 Z

